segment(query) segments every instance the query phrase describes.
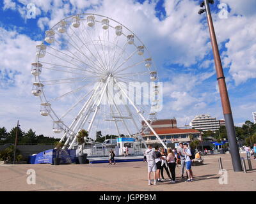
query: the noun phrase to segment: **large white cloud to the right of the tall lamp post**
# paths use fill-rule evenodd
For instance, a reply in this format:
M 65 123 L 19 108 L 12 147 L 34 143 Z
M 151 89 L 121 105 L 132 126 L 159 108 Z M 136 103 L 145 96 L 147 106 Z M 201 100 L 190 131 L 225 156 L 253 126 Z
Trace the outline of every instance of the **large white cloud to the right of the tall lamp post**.
M 227 3 L 231 12 L 225 19 L 214 15 L 217 40 L 219 43 L 226 42 L 227 51 L 222 54 L 223 66 L 230 68 L 230 75 L 239 85 L 256 78 L 256 1 L 221 2 Z

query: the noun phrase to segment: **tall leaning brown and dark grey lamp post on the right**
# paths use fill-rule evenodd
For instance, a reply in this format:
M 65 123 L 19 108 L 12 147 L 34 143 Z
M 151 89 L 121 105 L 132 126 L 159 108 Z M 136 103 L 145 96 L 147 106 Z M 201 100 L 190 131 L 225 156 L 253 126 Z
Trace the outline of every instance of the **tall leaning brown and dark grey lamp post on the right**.
M 233 165 L 233 170 L 234 171 L 243 171 L 242 170 L 242 164 L 241 164 L 241 158 L 239 154 L 239 149 L 237 145 L 237 140 L 236 140 L 236 130 L 234 127 L 234 120 L 232 116 L 232 110 L 230 107 L 230 101 L 228 98 L 228 91 L 227 91 L 227 85 L 225 82 L 225 77 L 223 73 L 223 68 L 221 64 L 221 59 L 220 59 L 220 52 L 216 40 L 216 35 L 214 31 L 214 26 L 212 23 L 212 17 L 211 17 L 211 11 L 209 7 L 209 3 L 214 4 L 213 0 L 204 0 L 200 4 L 200 7 L 204 7 L 198 11 L 198 14 L 202 14 L 206 12 L 207 14 L 207 22 L 209 26 L 209 33 L 210 33 L 210 38 L 211 38 L 211 44 L 212 44 L 212 52 L 214 56 L 214 63 L 215 63 L 215 68 L 216 68 L 216 73 L 217 73 L 217 80 L 218 80 L 218 85 L 220 89 L 220 98 L 221 98 L 221 105 L 222 105 L 222 110 L 225 118 L 225 123 L 226 123 L 226 129 L 227 129 L 227 135 L 228 135 L 228 142 L 229 142 L 229 147 L 230 147 L 230 154 L 231 154 L 231 159 L 232 159 L 232 165 Z

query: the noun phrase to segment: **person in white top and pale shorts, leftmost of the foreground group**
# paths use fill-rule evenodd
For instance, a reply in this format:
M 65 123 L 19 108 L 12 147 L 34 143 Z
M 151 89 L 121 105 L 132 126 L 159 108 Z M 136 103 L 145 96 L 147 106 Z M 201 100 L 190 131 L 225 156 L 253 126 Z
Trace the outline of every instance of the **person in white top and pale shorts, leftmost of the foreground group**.
M 148 145 L 148 149 L 145 151 L 148 163 L 148 185 L 152 185 L 150 174 L 153 171 L 154 174 L 154 185 L 157 185 L 156 181 L 156 153 L 152 150 L 152 145 Z

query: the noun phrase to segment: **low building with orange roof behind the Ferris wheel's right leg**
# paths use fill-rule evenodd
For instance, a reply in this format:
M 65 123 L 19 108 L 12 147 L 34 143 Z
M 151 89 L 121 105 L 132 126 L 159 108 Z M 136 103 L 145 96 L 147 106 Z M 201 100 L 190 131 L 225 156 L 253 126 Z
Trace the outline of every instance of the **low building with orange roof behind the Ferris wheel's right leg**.
M 145 122 L 141 122 L 142 127 L 145 125 Z M 191 142 L 190 135 L 193 138 L 197 138 L 201 141 L 201 132 L 196 129 L 180 129 L 177 127 L 176 119 L 162 119 L 156 120 L 151 124 L 154 131 L 157 135 L 166 143 L 179 143 L 179 142 Z M 147 144 L 158 144 L 160 143 L 157 140 L 156 136 L 148 128 L 143 133 L 143 138 Z

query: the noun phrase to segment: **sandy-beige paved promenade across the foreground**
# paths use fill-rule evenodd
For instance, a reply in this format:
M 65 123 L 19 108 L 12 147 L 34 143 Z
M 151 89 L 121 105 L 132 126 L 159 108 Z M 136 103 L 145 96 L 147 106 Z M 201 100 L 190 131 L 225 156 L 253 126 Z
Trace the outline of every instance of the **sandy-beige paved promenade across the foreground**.
M 228 184 L 219 184 L 219 157 L 227 170 Z M 194 182 L 184 182 L 177 167 L 176 184 L 164 182 L 148 186 L 147 163 L 142 161 L 116 165 L 3 164 L 0 165 L 0 191 L 256 191 L 256 161 L 253 159 L 252 166 L 253 170 L 246 174 L 234 172 L 230 154 L 215 154 L 205 156 L 204 165 L 192 166 Z M 35 185 L 27 184 L 29 169 L 35 170 Z

